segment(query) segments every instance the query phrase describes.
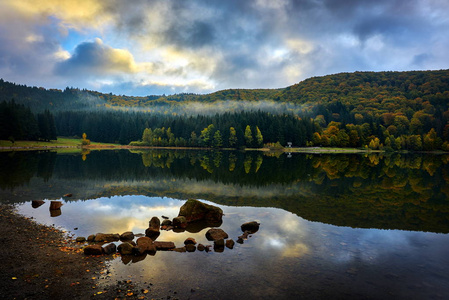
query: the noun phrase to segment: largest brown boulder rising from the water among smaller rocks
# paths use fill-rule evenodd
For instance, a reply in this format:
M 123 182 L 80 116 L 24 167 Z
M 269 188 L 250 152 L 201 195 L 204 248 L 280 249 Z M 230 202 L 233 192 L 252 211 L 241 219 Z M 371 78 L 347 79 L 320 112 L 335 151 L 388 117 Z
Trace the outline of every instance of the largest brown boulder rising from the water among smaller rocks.
M 189 199 L 179 209 L 178 216 L 185 217 L 188 223 L 195 221 L 206 221 L 211 224 L 221 224 L 223 210 L 219 207 L 205 204 L 195 199 Z

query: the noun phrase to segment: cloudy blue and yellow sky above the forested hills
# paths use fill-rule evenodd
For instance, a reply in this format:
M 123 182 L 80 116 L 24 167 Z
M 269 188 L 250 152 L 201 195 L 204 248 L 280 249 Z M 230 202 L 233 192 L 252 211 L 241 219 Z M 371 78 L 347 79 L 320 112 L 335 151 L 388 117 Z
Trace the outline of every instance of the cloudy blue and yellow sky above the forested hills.
M 449 68 L 447 0 L 0 0 L 0 77 L 126 95 Z

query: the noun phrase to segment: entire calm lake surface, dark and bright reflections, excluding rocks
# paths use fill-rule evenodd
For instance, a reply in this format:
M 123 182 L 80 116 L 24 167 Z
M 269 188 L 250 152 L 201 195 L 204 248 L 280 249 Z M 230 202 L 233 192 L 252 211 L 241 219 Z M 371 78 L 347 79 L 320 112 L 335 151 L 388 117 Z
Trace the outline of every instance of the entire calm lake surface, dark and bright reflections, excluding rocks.
M 232 250 L 111 260 L 102 283 L 132 280 L 150 298 L 449 298 L 448 155 L 3 152 L 0 163 L 3 203 L 75 236 L 144 233 L 189 198 L 221 207 L 234 240 L 260 222 Z M 207 245 L 207 230 L 158 240 Z

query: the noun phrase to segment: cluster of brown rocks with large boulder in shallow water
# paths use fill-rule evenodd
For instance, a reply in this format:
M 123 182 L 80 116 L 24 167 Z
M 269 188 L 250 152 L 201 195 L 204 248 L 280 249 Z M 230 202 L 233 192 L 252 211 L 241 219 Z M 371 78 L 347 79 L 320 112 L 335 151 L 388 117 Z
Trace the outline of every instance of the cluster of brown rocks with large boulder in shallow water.
M 180 209 L 179 215 L 173 220 L 169 220 L 163 216 L 161 223 L 158 217 L 153 217 L 148 222 L 148 228 L 145 230 L 145 236 L 134 234 L 131 231 L 118 233 L 97 233 L 90 235 L 87 242 L 91 243 L 84 247 L 85 255 L 103 255 L 120 253 L 122 260 L 125 262 L 137 262 L 145 258 L 146 255 L 155 255 L 157 251 L 175 251 L 175 252 L 209 252 L 213 248 L 215 252 L 223 252 L 225 247 L 233 249 L 235 242 L 229 239 L 229 235 L 220 228 L 211 228 L 205 238 L 213 242 L 213 245 L 198 244 L 197 241 L 189 237 L 184 241 L 184 246 L 176 248 L 175 244 L 170 241 L 156 241 L 160 236 L 160 230 L 184 231 L 192 224 L 204 222 L 209 224 L 208 227 L 214 227 L 210 224 L 222 222 L 223 211 L 215 206 L 204 204 L 198 200 L 189 199 Z M 201 227 L 200 226 L 200 227 Z M 243 244 L 250 234 L 254 234 L 259 230 L 260 224 L 256 221 L 244 223 L 241 225 L 243 234 L 238 237 L 237 243 Z M 134 239 L 137 240 L 134 242 Z M 84 237 L 78 237 L 77 242 L 86 241 Z M 121 241 L 120 245 L 114 242 Z M 109 244 L 108 244 L 109 243 Z M 126 258 L 126 256 L 129 256 Z

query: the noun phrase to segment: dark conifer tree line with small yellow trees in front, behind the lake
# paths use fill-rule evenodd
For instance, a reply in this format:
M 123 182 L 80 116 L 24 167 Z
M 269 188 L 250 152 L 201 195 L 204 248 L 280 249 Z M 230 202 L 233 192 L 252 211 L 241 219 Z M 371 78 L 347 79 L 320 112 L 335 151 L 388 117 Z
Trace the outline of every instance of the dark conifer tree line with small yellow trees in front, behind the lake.
M 151 146 L 260 147 L 264 143 L 306 146 L 317 129 L 310 118 L 267 112 L 172 116 L 122 111 L 67 111 L 55 116 L 59 135 L 97 142 Z M 137 145 L 138 143 L 134 143 Z

